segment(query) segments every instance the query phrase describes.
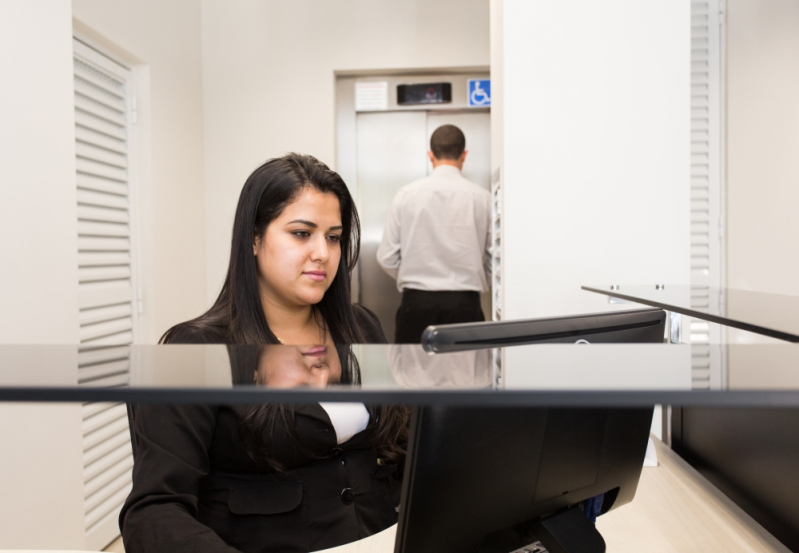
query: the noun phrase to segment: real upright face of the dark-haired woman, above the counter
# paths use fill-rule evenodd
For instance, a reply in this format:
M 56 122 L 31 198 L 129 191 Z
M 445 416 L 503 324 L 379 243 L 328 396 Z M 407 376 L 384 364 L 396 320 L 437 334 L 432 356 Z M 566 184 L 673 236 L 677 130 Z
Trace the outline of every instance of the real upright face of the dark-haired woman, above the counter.
M 306 187 L 255 239 L 261 293 L 288 308 L 319 303 L 336 278 L 341 233 L 336 195 Z

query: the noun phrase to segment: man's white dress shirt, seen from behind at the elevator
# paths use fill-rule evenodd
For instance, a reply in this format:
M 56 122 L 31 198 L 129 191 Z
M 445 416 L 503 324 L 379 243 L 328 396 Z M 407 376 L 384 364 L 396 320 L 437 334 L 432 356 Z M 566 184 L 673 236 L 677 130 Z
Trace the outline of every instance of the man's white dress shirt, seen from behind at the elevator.
M 491 194 L 439 165 L 391 203 L 377 262 L 397 289 L 488 290 Z

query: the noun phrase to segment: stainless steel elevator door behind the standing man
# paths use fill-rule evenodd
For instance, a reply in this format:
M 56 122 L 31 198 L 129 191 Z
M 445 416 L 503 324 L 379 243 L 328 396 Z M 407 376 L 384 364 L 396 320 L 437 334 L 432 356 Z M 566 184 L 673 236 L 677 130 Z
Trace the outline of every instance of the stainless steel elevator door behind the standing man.
M 377 264 L 386 214 L 397 191 L 432 171 L 427 151 L 430 135 L 440 125 L 458 126 L 466 135 L 469 154 L 463 175 L 490 186 L 491 129 L 487 111 L 394 111 L 359 113 L 356 119 L 358 214 L 361 217 L 360 298 L 374 311 L 389 341 L 401 295 L 397 283 Z M 483 294 L 483 312 L 490 314 L 490 294 Z

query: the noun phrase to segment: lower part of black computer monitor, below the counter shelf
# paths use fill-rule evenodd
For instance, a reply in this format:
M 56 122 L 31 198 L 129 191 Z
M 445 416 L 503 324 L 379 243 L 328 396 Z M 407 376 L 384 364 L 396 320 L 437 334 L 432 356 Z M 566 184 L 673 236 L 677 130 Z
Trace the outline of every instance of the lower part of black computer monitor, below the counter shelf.
M 414 410 L 395 553 L 598 553 L 600 513 L 630 502 L 652 408 Z

